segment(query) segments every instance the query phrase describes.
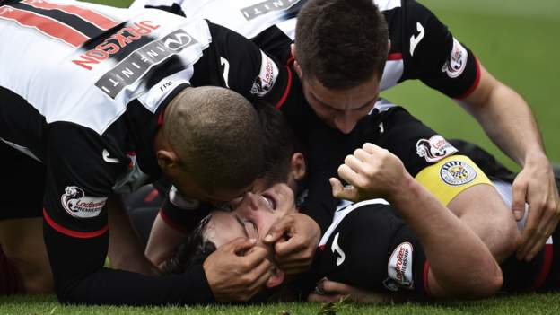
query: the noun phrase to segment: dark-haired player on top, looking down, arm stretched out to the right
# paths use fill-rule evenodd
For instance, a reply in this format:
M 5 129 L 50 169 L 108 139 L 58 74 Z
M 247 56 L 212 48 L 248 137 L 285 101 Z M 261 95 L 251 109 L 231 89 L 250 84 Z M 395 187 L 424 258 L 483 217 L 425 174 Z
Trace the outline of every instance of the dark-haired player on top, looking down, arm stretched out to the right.
M 369 113 L 380 91 L 421 80 L 459 102 L 521 165 L 513 182 L 512 210 L 518 220 L 525 202 L 530 211 L 518 258 L 533 258 L 555 230 L 560 217 L 557 188 L 529 106 L 496 80 L 422 4 L 412 0 L 136 0 L 131 7 L 146 5 L 210 19 L 251 39 L 286 65 L 280 67 L 277 82 L 289 75 L 292 91 L 299 90 L 301 82 L 311 109 L 344 133 Z M 304 120 L 293 114 L 290 105 L 277 107 L 290 121 Z

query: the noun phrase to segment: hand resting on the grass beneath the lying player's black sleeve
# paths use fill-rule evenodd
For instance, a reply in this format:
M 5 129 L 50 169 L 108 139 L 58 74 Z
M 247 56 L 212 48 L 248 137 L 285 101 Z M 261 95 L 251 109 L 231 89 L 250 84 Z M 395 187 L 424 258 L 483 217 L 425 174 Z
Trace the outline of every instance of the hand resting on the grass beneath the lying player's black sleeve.
M 308 302 L 337 302 L 344 299 L 351 302 L 384 303 L 391 302 L 391 296 L 386 293 L 365 291 L 348 284 L 330 281 L 327 278 L 319 281 L 315 292 L 307 297 Z

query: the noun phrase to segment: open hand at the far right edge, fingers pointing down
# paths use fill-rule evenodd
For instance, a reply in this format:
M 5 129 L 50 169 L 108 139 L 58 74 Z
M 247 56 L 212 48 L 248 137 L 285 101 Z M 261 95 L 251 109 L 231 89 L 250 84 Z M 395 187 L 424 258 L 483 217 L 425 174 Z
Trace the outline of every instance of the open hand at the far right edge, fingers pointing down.
M 517 258 L 531 260 L 542 249 L 555 231 L 560 208 L 554 172 L 546 156 L 525 163 L 512 185 L 512 211 L 521 220 L 525 203 L 529 204 L 529 217 L 521 233 L 521 246 Z

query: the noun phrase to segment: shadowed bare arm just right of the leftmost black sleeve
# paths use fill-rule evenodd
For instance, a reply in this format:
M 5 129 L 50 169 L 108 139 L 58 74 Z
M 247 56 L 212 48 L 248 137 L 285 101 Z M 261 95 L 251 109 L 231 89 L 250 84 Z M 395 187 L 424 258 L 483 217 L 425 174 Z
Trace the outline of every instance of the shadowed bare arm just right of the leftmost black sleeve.
M 144 276 L 158 275 L 157 268 L 144 256 L 136 232 L 118 195 L 109 197 L 109 251 L 111 267 Z

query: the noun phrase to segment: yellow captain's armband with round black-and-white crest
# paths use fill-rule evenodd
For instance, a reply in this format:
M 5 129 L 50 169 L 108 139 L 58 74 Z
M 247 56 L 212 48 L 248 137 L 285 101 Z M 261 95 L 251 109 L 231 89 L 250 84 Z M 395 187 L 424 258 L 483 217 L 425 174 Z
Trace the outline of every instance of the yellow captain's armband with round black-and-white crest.
M 416 180 L 443 205 L 467 188 L 492 185 L 486 174 L 465 155 L 451 155 L 416 174 Z

